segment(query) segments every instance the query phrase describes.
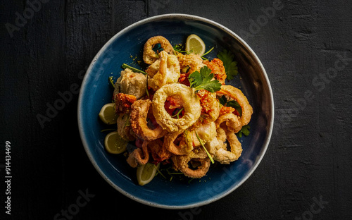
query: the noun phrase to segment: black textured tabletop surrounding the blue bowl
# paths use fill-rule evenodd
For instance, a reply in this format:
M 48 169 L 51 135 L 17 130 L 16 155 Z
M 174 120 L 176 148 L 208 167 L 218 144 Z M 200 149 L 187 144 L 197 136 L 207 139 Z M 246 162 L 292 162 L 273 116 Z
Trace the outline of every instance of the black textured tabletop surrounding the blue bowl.
M 6 23 L 15 25 L 29 5 L 1 1 L 0 219 L 55 219 L 69 208 L 77 214 L 56 219 L 349 219 L 352 3 L 276 2 L 48 1 L 25 15 L 27 23 L 18 20 L 23 27 L 11 37 Z M 108 39 L 164 13 L 202 16 L 237 32 L 263 62 L 275 97 L 274 132 L 258 169 L 227 197 L 198 209 L 147 207 L 108 185 L 82 147 L 78 94 L 44 128 L 37 120 L 61 92 L 81 84 Z M 4 209 L 6 140 L 11 216 Z M 73 209 L 86 190 L 95 196 Z

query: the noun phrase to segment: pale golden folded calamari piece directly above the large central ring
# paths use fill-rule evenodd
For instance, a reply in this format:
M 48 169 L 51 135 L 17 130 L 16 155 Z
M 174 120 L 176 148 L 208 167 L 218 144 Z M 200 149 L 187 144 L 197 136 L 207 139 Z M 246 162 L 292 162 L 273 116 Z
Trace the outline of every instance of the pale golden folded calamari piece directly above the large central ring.
M 180 64 L 177 57 L 165 51 L 161 51 L 159 55 L 160 63 L 158 71 L 155 74 L 154 71 L 148 71 L 152 73 L 148 78 L 148 86 L 153 90 L 158 90 L 163 85 L 177 82 L 178 78 L 180 78 Z

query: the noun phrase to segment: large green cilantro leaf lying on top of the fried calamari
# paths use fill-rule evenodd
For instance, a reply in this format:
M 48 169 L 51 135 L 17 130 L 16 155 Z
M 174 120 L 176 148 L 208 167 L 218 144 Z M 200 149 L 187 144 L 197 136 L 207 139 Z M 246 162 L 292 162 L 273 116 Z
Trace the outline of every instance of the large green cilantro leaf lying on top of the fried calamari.
M 210 68 L 203 66 L 201 71 L 194 71 L 188 76 L 190 87 L 198 90 L 208 90 L 209 92 L 217 92 L 221 88 L 219 80 L 212 80 L 214 74 Z

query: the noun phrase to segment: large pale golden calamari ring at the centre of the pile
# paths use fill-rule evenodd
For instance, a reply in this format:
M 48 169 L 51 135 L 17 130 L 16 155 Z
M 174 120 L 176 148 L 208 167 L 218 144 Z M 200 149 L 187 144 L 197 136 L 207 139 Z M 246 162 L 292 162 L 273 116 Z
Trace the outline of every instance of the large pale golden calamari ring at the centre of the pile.
M 172 118 L 165 110 L 165 101 L 170 96 L 181 99 L 184 108 L 182 118 Z M 199 97 L 194 94 L 190 87 L 179 83 L 164 85 L 157 90 L 153 95 L 152 109 L 156 122 L 170 133 L 187 129 L 201 116 Z

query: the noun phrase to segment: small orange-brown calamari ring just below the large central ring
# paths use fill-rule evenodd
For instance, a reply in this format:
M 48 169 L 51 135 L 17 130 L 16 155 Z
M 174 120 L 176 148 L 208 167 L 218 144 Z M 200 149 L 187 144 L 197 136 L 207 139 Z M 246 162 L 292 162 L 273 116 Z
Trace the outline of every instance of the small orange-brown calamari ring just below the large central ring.
M 193 149 L 191 135 L 183 130 L 181 132 L 169 133 L 164 137 L 163 147 L 175 155 L 189 154 Z

